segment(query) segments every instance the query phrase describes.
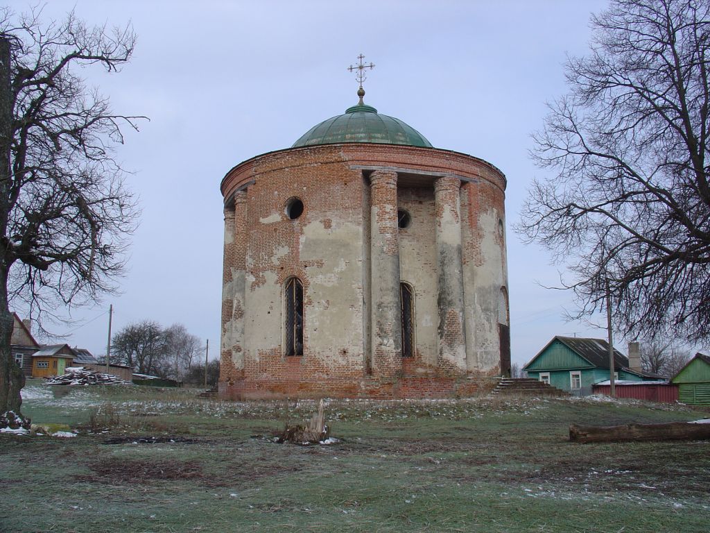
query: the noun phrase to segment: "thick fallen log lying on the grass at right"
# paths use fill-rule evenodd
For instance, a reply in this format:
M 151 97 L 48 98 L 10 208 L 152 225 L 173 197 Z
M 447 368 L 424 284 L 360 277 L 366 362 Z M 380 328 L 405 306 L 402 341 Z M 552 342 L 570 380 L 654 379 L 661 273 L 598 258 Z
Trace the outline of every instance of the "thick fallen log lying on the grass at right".
M 625 424 L 623 426 L 569 426 L 569 441 L 702 441 L 710 439 L 710 424 L 669 422 L 666 424 Z

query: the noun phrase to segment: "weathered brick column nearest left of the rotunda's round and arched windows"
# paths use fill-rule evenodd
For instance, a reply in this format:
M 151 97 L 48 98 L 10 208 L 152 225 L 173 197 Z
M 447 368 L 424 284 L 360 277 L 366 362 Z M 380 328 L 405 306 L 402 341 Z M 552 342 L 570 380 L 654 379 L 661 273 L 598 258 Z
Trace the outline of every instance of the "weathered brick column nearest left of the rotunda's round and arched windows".
M 234 195 L 234 267 L 232 278 L 234 298 L 231 311 L 232 345 L 231 357 L 234 367 L 244 372 L 244 299 L 246 294 L 246 190 Z

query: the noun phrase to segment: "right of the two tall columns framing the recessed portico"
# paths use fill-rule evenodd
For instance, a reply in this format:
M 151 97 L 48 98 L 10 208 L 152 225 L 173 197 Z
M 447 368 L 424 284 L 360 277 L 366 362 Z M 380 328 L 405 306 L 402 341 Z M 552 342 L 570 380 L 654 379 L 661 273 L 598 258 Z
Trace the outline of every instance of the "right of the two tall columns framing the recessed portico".
M 439 274 L 439 354 L 445 371 L 466 370 L 464 277 L 461 265 L 461 182 L 457 178 L 434 181 L 436 204 L 437 272 Z

